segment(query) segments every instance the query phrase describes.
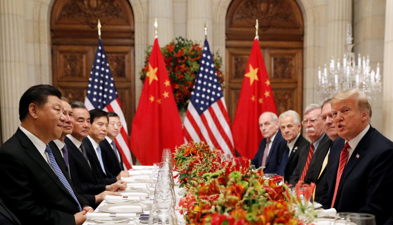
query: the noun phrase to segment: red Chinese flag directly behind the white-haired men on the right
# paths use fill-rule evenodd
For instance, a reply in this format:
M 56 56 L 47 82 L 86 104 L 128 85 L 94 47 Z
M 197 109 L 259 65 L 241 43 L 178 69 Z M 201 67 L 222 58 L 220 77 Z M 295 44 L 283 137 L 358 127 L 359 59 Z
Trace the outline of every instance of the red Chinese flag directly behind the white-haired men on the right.
M 249 159 L 253 159 L 263 138 L 258 124 L 263 112 L 277 114 L 258 37 L 255 37 L 232 125 L 235 148 L 239 154 Z

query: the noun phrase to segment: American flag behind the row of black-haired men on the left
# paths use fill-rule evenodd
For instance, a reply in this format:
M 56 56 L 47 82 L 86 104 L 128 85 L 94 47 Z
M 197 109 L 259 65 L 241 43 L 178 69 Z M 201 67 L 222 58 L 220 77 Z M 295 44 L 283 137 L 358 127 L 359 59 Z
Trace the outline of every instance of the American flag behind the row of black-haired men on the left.
M 127 134 L 127 123 L 125 122 L 123 111 L 121 111 L 119 95 L 116 91 L 101 39 L 98 40 L 98 48 L 95 52 L 84 104 L 88 110 L 98 108 L 107 112 L 115 112 L 119 115 L 122 127 L 114 141 L 121 153 L 125 167 L 130 169 L 132 158 Z

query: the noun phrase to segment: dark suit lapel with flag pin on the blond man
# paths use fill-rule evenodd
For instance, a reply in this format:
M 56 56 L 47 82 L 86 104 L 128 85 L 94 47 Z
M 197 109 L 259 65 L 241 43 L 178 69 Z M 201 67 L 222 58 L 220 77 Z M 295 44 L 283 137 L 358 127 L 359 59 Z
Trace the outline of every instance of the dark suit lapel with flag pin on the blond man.
M 343 174 L 341 175 L 341 179 L 340 179 L 340 184 L 338 186 L 338 190 L 337 193 L 340 192 L 340 190 L 342 189 L 344 183 L 345 183 L 345 179 L 347 179 L 348 175 L 351 173 L 351 171 L 353 170 L 353 168 L 356 166 L 356 164 L 358 164 L 358 162 L 365 157 L 365 155 L 367 154 L 367 148 L 369 146 L 369 142 L 371 139 L 371 136 L 374 133 L 374 128 L 372 128 L 370 126 L 369 130 L 367 131 L 367 133 L 364 135 L 364 137 L 359 141 L 358 145 L 356 146 L 356 148 L 353 150 L 351 157 L 348 160 L 347 165 L 345 165 L 344 170 L 343 170 Z M 358 157 L 356 157 L 357 155 L 359 155 Z

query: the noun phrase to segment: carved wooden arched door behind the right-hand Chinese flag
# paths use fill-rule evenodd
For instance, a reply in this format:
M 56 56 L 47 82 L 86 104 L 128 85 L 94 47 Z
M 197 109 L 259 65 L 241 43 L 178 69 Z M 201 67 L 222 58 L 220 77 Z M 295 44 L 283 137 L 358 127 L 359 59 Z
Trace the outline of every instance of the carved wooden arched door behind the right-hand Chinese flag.
M 226 103 L 231 120 L 259 20 L 259 45 L 277 113 L 303 104 L 303 17 L 295 0 L 233 0 L 226 16 Z M 257 122 L 256 122 L 257 123 Z

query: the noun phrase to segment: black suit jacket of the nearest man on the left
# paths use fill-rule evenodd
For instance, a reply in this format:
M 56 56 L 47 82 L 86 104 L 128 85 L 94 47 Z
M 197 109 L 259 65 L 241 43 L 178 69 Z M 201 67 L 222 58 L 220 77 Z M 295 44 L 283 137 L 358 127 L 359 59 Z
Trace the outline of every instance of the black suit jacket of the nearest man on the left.
M 61 170 L 66 165 L 52 151 Z M 0 193 L 22 224 L 75 225 L 79 206 L 30 139 L 18 128 L 0 147 Z M 68 174 L 64 176 L 70 181 Z M 74 190 L 79 203 L 87 205 Z

